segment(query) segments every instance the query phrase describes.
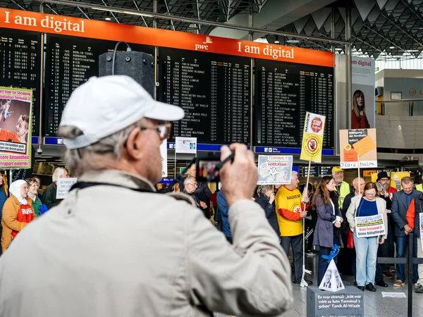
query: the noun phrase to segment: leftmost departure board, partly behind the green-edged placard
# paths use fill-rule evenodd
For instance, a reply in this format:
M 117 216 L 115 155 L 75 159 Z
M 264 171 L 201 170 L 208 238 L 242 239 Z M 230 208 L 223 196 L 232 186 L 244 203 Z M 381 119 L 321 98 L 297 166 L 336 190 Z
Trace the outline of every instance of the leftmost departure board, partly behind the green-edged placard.
M 37 32 L 0 28 L 0 85 L 32 89 L 33 136 L 39 135 L 40 42 Z

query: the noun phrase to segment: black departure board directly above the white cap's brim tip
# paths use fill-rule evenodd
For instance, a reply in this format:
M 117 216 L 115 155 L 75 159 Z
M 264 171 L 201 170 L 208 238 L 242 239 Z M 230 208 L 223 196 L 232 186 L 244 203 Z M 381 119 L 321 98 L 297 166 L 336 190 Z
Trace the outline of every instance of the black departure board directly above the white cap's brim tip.
M 200 144 L 250 144 L 250 58 L 159 49 L 159 100 L 180 106 L 175 137 Z

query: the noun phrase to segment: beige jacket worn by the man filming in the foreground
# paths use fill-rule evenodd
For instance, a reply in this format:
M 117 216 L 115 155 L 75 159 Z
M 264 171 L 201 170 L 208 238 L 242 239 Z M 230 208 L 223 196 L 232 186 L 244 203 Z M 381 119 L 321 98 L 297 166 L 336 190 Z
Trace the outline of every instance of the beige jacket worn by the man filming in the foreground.
M 154 190 L 117 170 L 80 181 Z M 282 313 L 293 303 L 290 265 L 264 212 L 238 201 L 229 221 L 233 245 L 187 201 L 108 185 L 75 189 L 0 257 L 0 316 Z

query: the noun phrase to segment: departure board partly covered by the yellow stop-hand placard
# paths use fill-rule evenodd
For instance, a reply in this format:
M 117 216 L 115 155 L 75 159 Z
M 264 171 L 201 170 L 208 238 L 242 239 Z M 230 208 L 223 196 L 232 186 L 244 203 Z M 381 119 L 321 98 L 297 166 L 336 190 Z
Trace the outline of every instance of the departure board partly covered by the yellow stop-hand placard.
M 333 68 L 255 60 L 255 142 L 300 148 L 306 111 L 326 116 L 324 149 L 333 149 Z

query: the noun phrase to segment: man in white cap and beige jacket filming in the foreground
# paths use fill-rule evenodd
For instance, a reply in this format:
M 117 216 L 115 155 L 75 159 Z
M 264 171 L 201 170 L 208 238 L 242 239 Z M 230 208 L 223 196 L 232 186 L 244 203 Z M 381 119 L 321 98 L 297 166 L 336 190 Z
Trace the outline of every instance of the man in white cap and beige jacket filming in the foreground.
M 276 316 L 290 266 L 262 209 L 252 152 L 222 147 L 233 245 L 185 194 L 158 194 L 159 146 L 182 109 L 125 76 L 75 89 L 59 128 L 78 176 L 0 259 L 0 316 Z

